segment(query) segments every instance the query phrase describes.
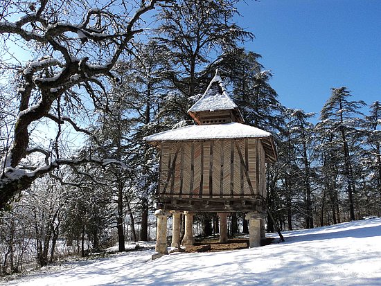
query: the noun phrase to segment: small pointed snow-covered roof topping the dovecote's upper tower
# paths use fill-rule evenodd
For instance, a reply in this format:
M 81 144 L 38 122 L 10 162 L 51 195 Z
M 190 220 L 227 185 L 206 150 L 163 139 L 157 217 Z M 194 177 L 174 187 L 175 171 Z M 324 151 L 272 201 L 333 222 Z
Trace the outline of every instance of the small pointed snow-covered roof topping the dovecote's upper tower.
M 230 98 L 229 93 L 222 81 L 218 71 L 215 72 L 213 80 L 211 80 L 209 87 L 204 92 L 204 95 L 195 102 L 188 112 L 197 111 L 215 111 L 236 109 L 238 106 Z

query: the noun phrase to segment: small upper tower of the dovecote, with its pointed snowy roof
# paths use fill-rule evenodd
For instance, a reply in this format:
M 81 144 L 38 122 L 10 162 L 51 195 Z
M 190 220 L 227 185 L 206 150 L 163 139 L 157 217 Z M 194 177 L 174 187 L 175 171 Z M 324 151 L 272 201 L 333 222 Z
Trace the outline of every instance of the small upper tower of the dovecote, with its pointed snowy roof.
M 238 106 L 231 100 L 218 70 L 204 95 L 190 107 L 188 114 L 198 125 L 245 122 Z

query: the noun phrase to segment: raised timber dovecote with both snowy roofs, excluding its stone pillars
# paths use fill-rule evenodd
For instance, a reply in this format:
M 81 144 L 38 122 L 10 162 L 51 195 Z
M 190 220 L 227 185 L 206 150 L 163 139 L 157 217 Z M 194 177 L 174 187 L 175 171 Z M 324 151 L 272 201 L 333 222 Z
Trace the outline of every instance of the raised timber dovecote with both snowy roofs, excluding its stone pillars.
M 242 124 L 219 75 L 188 113 L 197 125 L 145 137 L 160 148 L 160 208 L 263 213 L 272 135 Z

